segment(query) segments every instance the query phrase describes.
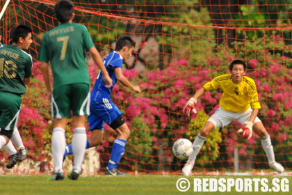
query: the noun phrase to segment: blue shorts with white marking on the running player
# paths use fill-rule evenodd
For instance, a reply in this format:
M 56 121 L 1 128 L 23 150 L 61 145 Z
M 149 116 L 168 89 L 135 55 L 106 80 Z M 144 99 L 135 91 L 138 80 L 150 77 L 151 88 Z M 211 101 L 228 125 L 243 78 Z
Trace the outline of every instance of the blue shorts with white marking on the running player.
M 90 100 L 90 115 L 88 116 L 91 130 L 104 130 L 104 122 L 111 125 L 122 112 L 115 106 L 111 99 L 102 98 Z

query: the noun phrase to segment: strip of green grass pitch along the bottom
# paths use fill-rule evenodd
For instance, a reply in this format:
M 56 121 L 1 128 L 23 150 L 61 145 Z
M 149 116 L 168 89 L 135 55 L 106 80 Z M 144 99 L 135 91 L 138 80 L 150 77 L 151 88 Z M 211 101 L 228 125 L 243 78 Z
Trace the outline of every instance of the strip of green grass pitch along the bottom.
M 273 178 L 287 178 L 289 191 L 292 190 L 291 176 L 195 176 L 190 180 L 190 189 L 179 192 L 176 183 L 183 176 L 81 176 L 78 180 L 51 181 L 49 176 L 0 176 L 0 194 L 292 194 L 292 192 L 193 192 L 194 178 L 267 178 L 269 187 Z M 260 186 L 259 186 L 260 187 Z

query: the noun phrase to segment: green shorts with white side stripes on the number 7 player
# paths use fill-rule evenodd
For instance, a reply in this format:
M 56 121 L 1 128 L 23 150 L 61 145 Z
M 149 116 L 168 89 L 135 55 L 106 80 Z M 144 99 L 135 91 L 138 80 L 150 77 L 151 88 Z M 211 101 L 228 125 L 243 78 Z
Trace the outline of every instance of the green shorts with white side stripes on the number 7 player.
M 54 88 L 51 97 L 51 115 L 53 118 L 70 118 L 89 114 L 89 84 L 67 84 Z

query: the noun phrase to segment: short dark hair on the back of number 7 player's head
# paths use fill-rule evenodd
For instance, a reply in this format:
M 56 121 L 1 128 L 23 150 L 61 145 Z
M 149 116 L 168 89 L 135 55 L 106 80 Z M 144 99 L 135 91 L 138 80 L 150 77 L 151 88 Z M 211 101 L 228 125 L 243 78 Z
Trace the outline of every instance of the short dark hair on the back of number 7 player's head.
M 55 13 L 60 23 L 66 23 L 74 13 L 74 4 L 69 0 L 60 0 L 56 3 Z

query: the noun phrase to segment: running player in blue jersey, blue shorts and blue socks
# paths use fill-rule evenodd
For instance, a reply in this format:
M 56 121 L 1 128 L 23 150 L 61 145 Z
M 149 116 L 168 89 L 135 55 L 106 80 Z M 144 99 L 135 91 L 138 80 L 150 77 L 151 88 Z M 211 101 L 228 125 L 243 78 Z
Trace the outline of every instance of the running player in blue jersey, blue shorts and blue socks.
M 108 54 L 104 59 L 106 70 L 113 79 L 113 86 L 120 81 L 124 86 L 131 88 L 136 93 L 140 93 L 139 86 L 133 86 L 129 80 L 122 74 L 122 61 L 127 61 L 131 56 L 136 43 L 129 36 L 121 36 L 116 43 L 115 51 Z M 130 130 L 122 117 L 122 112 L 111 101 L 111 88 L 106 88 L 102 80 L 102 72 L 99 72 L 95 87 L 90 94 L 90 116 L 88 117 L 90 131 L 92 136 L 88 137 L 86 148 L 98 146 L 103 140 L 104 122 L 117 132 L 117 139 L 113 143 L 111 159 L 106 167 L 106 175 L 124 175 L 117 169 L 117 164 L 120 162 L 124 154 L 124 146 L 130 135 Z M 72 154 L 71 144 L 66 147 L 66 155 Z

